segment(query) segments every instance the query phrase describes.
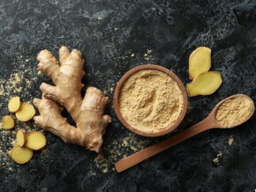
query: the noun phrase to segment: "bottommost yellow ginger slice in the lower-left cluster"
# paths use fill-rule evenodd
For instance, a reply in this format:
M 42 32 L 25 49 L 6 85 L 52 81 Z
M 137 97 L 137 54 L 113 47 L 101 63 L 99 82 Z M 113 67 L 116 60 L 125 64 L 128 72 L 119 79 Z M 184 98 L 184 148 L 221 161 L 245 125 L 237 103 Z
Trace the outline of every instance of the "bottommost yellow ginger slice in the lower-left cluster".
M 15 145 L 8 154 L 12 160 L 19 164 L 25 164 L 33 157 L 33 151 L 31 149 L 18 145 Z

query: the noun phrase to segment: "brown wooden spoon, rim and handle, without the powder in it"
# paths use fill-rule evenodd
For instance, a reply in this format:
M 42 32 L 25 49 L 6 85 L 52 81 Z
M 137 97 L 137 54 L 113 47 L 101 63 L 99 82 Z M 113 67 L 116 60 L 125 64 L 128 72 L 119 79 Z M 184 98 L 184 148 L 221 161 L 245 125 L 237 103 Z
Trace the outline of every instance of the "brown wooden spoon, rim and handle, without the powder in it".
M 250 97 L 248 97 L 247 95 L 244 95 L 244 94 L 235 94 L 235 95 L 232 95 L 232 96 L 226 98 L 225 100 L 230 100 L 231 98 L 234 98 L 237 96 L 246 97 L 247 99 L 252 100 Z M 175 135 L 173 137 L 169 137 L 168 139 L 163 140 L 159 144 L 154 144 L 150 147 L 147 147 L 146 149 L 144 149 L 142 151 L 136 152 L 136 153 L 132 154 L 131 156 L 128 156 L 124 159 L 117 161 L 117 163 L 115 163 L 117 172 L 119 172 L 119 173 L 123 172 L 124 170 L 126 170 L 132 166 L 135 166 L 150 157 L 153 157 L 155 154 L 157 154 L 161 151 L 164 151 L 175 144 L 179 144 L 179 143 L 183 142 L 184 140 L 186 140 L 190 137 L 193 137 L 207 129 L 233 128 L 233 127 L 236 127 L 237 125 L 240 125 L 240 124 L 246 122 L 247 120 L 249 120 L 252 117 L 252 114 L 254 113 L 254 110 L 255 110 L 253 101 L 252 101 L 252 106 L 253 106 L 252 113 L 249 116 L 245 117 L 245 119 L 243 121 L 237 122 L 236 124 L 234 124 L 232 126 L 223 126 L 222 124 L 218 123 L 217 120 L 215 119 L 215 113 L 225 100 L 222 100 L 221 102 L 219 102 L 215 106 L 213 111 L 207 116 L 206 119 L 193 125 L 191 128 L 185 129 L 183 132 L 178 133 L 177 135 Z

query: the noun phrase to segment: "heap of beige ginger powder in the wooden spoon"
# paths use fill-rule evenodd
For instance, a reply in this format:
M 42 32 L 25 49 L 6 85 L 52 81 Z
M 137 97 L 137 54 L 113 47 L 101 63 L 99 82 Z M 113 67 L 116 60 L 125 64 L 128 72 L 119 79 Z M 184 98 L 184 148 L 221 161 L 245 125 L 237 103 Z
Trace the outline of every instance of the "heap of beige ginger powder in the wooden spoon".
M 252 114 L 254 104 L 245 96 L 237 96 L 225 100 L 222 105 L 217 109 L 215 114 L 217 122 L 224 126 L 234 126 L 238 122 L 243 122 Z

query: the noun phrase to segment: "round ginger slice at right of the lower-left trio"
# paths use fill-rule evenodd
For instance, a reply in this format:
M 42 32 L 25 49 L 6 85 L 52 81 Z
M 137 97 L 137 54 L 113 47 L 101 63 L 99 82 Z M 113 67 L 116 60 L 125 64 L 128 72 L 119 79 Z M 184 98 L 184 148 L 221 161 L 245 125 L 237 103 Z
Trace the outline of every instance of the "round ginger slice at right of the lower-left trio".
M 32 150 L 41 150 L 47 143 L 47 138 L 41 131 L 31 131 L 26 136 L 26 147 Z

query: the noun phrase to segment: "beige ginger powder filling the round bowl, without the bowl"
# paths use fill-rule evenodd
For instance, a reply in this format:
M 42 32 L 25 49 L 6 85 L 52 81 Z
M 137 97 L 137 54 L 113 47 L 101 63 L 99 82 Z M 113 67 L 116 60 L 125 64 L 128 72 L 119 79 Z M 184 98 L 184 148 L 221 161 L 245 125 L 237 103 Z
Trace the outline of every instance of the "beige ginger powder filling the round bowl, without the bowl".
M 139 70 L 124 82 L 119 96 L 124 120 L 142 132 L 173 125 L 183 108 L 177 82 L 160 70 Z

